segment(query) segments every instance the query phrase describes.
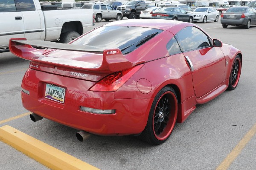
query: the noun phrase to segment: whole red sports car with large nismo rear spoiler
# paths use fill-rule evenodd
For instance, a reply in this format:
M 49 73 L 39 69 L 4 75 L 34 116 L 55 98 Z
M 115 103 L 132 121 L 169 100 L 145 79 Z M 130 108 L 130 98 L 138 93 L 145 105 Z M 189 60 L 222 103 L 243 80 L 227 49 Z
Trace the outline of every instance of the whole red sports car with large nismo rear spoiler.
M 9 49 L 31 61 L 21 98 L 32 120 L 151 144 L 197 104 L 235 89 L 242 63 L 239 49 L 172 20 L 115 21 L 70 44 L 11 39 Z

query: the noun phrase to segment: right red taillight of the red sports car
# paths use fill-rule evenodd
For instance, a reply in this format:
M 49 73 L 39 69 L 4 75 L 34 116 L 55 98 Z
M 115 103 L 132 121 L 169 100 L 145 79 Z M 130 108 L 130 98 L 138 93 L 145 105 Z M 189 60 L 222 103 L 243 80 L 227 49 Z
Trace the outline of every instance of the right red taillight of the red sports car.
M 133 76 L 144 64 L 134 66 L 131 69 L 114 72 L 94 84 L 89 90 L 94 92 L 114 92 L 118 90 L 131 76 Z

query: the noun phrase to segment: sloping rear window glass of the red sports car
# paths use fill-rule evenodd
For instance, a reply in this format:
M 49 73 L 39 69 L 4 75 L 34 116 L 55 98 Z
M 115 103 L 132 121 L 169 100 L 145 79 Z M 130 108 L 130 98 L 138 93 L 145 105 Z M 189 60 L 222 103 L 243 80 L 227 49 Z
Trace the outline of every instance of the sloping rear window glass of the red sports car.
M 119 48 L 123 54 L 127 54 L 160 32 L 163 31 L 144 27 L 102 26 L 72 44 L 94 46 L 101 49 Z

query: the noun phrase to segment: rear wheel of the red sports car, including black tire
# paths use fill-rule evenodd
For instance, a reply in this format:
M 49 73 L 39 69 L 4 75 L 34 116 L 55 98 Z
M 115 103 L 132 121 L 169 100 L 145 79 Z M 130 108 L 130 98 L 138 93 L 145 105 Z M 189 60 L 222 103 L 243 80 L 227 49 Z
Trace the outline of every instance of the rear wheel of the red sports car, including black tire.
M 138 138 L 155 145 L 165 142 L 174 129 L 177 108 L 177 95 L 174 89 L 169 86 L 163 87 L 154 98 L 147 125 Z

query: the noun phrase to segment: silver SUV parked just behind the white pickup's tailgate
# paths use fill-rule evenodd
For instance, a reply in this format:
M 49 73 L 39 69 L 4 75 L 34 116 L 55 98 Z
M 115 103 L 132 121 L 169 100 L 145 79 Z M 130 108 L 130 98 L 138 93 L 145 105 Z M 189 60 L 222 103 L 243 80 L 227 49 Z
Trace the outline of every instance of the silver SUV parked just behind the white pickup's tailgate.
M 93 15 L 97 23 L 101 22 L 102 19 L 106 21 L 122 19 L 122 12 L 113 9 L 113 7 L 109 5 L 86 3 L 82 6 L 82 9 L 93 9 Z

